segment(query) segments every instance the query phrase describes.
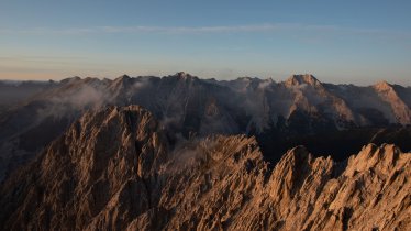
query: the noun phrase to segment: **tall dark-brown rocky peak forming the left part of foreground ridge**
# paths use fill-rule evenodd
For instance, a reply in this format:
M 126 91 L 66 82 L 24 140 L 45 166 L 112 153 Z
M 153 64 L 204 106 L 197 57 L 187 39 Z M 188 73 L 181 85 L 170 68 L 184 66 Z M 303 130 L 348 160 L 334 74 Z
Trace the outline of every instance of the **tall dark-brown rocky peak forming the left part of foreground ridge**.
M 167 146 L 137 106 L 89 112 L 1 188 L 5 230 L 123 230 L 151 207 Z

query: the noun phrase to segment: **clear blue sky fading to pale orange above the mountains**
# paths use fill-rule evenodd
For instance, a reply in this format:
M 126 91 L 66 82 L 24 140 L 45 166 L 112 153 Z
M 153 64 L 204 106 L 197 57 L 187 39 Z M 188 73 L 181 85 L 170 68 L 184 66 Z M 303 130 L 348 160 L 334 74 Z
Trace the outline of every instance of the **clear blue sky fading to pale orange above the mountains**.
M 411 86 L 409 0 L 0 0 L 0 79 L 186 72 Z

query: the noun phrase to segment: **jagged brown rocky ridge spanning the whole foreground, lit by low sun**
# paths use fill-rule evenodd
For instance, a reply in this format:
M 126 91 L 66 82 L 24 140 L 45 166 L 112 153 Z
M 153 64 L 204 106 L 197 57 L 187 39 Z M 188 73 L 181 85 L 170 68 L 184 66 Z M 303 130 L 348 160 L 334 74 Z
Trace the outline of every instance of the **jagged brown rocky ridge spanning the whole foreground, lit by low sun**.
M 0 189 L 3 230 L 408 230 L 411 155 L 369 144 L 344 163 L 254 138 L 170 144 L 147 110 L 88 112 Z

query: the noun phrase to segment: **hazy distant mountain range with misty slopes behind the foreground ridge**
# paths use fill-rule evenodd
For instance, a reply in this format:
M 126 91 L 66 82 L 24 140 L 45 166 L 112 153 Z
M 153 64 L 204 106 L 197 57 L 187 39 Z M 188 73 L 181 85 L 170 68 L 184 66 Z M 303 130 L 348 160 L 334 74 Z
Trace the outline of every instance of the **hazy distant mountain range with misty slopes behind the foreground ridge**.
M 175 141 L 210 134 L 255 135 L 273 161 L 295 144 L 295 138 L 321 140 L 359 130 L 354 146 L 334 147 L 345 158 L 380 129 L 411 134 L 407 129 L 411 88 L 388 82 L 332 85 L 312 75 L 293 75 L 280 82 L 248 77 L 215 80 L 177 73 L 162 78 L 124 75 L 113 80 L 74 77 L 42 86 L 0 114 L 0 178 L 32 160 L 82 113 L 108 106 L 148 109 Z M 320 148 L 325 152 L 329 148 Z

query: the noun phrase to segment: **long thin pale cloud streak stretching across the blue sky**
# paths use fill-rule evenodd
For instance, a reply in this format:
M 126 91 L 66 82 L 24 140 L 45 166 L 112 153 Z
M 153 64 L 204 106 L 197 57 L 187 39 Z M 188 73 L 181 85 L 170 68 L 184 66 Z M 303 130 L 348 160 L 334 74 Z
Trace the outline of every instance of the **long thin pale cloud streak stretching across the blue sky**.
M 214 25 L 214 26 L 93 26 L 93 28 L 34 28 L 34 29 L 0 29 L 0 34 L 63 34 L 63 35 L 82 35 L 82 34 L 122 34 L 122 33 L 165 33 L 165 34 L 210 34 L 210 33 L 264 33 L 264 32 L 312 32 L 319 34 L 336 35 L 363 35 L 381 37 L 402 37 L 411 38 L 409 32 L 387 30 L 387 29 L 360 29 L 344 28 L 336 25 L 318 25 L 303 23 L 262 23 L 246 25 Z M 303 34 L 302 34 L 303 35 Z

